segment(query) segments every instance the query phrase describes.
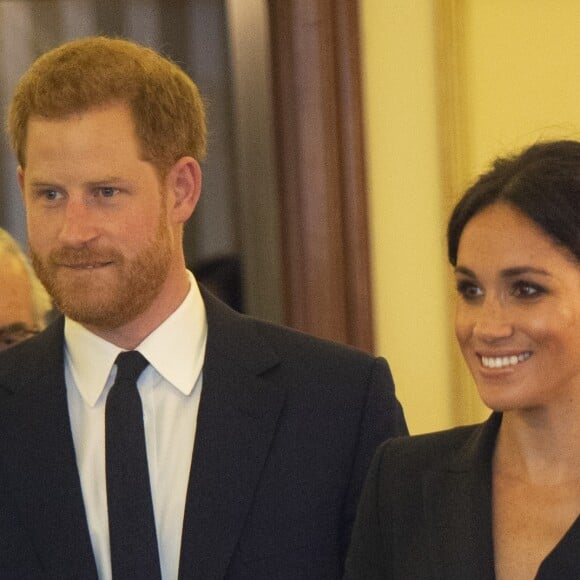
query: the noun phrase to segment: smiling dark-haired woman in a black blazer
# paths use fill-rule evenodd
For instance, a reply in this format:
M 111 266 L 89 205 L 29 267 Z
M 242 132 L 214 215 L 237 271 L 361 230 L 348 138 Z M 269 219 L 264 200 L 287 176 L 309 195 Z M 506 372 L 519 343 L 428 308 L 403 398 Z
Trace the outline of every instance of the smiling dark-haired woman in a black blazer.
M 391 440 L 349 580 L 580 578 L 580 143 L 499 159 L 448 227 L 483 424 Z

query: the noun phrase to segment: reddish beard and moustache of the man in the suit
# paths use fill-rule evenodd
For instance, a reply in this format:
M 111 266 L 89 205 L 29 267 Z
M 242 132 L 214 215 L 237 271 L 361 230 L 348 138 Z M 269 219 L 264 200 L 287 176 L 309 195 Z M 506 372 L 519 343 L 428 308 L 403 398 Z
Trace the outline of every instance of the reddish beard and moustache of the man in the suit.
M 142 314 L 158 296 L 169 272 L 171 234 L 160 219 L 155 238 L 135 258 L 116 249 L 59 248 L 42 258 L 31 248 L 31 259 L 40 281 L 55 306 L 69 318 L 87 326 L 115 329 Z M 67 270 L 61 264 L 112 262 L 116 274 L 93 275 L 90 271 Z M 104 274 L 104 275 L 103 275 Z

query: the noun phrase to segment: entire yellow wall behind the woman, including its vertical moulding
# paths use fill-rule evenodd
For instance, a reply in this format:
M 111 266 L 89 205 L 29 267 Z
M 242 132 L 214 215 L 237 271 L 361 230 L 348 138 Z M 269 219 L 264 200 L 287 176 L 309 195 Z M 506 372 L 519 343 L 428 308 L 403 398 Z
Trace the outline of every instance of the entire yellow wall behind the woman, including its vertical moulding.
M 360 18 L 377 350 L 413 433 L 479 420 L 452 337 L 446 189 L 534 140 L 580 139 L 580 2 L 361 0 Z M 444 185 L 450 161 L 463 174 Z

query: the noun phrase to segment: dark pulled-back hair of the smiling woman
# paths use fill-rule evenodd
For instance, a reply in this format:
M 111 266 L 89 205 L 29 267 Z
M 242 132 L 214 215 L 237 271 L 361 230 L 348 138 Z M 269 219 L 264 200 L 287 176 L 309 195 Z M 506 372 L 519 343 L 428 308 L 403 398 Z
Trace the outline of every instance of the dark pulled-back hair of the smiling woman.
M 497 159 L 465 192 L 447 227 L 447 256 L 457 264 L 467 222 L 486 207 L 508 203 L 567 248 L 580 261 L 580 143 L 536 143 Z

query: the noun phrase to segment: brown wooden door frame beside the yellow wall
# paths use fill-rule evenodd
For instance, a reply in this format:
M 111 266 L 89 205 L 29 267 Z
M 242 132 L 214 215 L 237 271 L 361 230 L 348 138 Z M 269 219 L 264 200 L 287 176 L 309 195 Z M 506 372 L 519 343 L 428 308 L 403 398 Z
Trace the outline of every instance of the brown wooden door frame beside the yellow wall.
M 288 325 L 373 350 L 358 2 L 268 2 Z

